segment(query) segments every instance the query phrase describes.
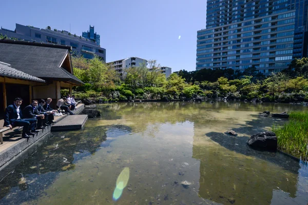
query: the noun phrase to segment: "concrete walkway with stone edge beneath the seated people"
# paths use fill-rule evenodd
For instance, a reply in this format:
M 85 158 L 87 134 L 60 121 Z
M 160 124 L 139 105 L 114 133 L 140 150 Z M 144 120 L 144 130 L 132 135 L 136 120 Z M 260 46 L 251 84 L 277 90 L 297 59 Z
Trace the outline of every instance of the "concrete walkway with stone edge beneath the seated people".
M 84 104 L 80 104 L 76 107 L 77 109 L 73 111 L 74 114 L 79 114 L 84 110 Z M 78 115 L 70 115 L 70 116 L 78 116 Z M 55 116 L 54 121 L 55 124 L 61 122 L 61 120 L 68 117 L 68 115 L 63 116 Z M 3 126 L 4 120 L 0 120 L 0 127 Z M 52 126 L 51 126 L 52 127 Z M 22 128 L 16 127 L 12 130 L 8 130 L 3 134 L 3 144 L 0 145 L 0 170 L 2 170 L 5 166 L 7 166 L 11 161 L 19 156 L 22 152 L 25 152 L 27 149 L 30 149 L 35 142 L 40 141 L 45 138 L 45 136 L 50 134 L 51 127 L 46 127 L 44 130 L 40 130 L 40 132 L 34 137 L 30 137 L 29 139 L 24 139 L 21 136 Z

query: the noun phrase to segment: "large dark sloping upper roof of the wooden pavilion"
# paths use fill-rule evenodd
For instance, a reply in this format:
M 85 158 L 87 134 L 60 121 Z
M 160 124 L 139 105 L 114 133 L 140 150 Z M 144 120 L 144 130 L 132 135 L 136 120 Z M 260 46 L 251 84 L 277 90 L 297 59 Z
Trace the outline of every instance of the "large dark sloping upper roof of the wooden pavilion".
M 0 61 L 45 80 L 83 85 L 80 79 L 60 67 L 69 55 L 69 48 L 61 45 L 0 40 Z

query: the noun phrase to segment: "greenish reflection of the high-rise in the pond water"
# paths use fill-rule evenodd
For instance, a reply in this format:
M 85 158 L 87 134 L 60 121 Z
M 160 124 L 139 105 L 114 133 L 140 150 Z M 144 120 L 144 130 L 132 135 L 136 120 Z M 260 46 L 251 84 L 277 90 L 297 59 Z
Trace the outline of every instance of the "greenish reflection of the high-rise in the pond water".
M 209 133 L 221 136 L 212 139 L 204 133 L 196 136 L 202 129 L 204 125 L 195 124 L 192 148 L 192 157 L 200 160 L 200 197 L 219 203 L 234 198 L 237 204 L 269 204 L 273 190 L 279 189 L 295 197 L 296 161 L 279 154 L 275 157 L 275 153 L 251 151 L 245 145 L 246 138 L 240 141 L 220 133 Z

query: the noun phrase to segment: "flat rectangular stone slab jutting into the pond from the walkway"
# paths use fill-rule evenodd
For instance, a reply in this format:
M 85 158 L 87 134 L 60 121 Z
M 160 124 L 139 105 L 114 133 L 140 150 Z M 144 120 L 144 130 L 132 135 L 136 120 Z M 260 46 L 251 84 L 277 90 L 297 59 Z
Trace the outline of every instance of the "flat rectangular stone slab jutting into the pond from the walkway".
M 51 127 L 51 131 L 79 130 L 82 129 L 88 115 L 69 115 Z

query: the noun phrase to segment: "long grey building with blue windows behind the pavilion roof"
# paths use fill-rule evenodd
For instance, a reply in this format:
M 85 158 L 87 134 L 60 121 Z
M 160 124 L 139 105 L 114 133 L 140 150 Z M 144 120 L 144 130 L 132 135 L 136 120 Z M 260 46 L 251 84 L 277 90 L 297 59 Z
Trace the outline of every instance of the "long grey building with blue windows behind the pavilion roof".
M 98 55 L 102 60 L 106 61 L 106 49 L 97 46 L 82 36 L 76 36 L 64 30 L 56 30 L 47 27 L 46 29 L 35 28 L 32 26 L 23 26 L 16 24 L 14 31 L 1 28 L 0 34 L 7 35 L 9 38 L 17 38 L 18 40 L 26 40 L 28 42 L 50 43 L 55 45 L 67 45 L 72 47 L 72 53 L 82 55 L 91 59 L 94 55 Z

